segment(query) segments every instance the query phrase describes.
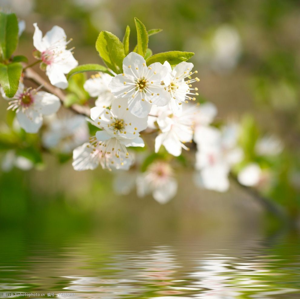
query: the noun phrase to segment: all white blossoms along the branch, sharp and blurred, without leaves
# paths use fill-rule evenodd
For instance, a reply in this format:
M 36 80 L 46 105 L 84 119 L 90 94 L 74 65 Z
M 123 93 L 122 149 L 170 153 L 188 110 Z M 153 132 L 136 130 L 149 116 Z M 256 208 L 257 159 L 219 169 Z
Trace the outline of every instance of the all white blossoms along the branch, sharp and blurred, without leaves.
M 67 49 L 71 40 L 67 41 L 64 30 L 58 26 L 44 37 L 37 24 L 34 27 L 34 56 L 41 70 L 52 85 L 67 88 L 66 74 L 78 65 L 72 49 Z M 42 91 L 43 85 L 26 88 L 22 78 L 13 98 L 7 98 L 3 89 L 1 92 L 26 132 L 37 133 L 44 123 L 43 148 L 61 154 L 73 152 L 75 170 L 93 170 L 99 164 L 103 169 L 118 170 L 114 180 L 117 192 L 128 194 L 136 186 L 138 196 L 152 194 L 158 202 L 166 203 L 178 188 L 170 155 L 179 157 L 183 149 L 189 150 L 188 144 L 196 145 L 194 181 L 200 188 L 227 191 L 232 167 L 243 160 L 238 145 L 239 126 L 231 123 L 216 128 L 212 125 L 216 107 L 208 102 L 194 103 L 198 89 L 193 83 L 199 81 L 192 77 L 195 73 L 190 62 L 147 65 L 142 55 L 130 52 L 123 59 L 123 73 L 108 69 L 84 82 L 84 92 L 96 98 L 90 118 L 61 107 L 61 99 Z M 88 122 L 96 128 L 92 137 Z M 148 145 L 142 153 L 134 150 L 145 147 L 143 133 L 156 137 L 154 159 L 141 171 L 142 160 L 147 158 L 145 152 L 151 149 Z M 268 155 L 270 149 L 280 153 L 282 145 L 274 138 L 257 143 L 258 155 Z M 5 170 L 13 166 L 24 170 L 33 167 L 31 161 L 15 151 L 8 152 L 5 161 Z M 244 165 L 238 174 L 239 182 L 246 186 L 258 185 L 266 177 L 260 166 L 253 163 Z

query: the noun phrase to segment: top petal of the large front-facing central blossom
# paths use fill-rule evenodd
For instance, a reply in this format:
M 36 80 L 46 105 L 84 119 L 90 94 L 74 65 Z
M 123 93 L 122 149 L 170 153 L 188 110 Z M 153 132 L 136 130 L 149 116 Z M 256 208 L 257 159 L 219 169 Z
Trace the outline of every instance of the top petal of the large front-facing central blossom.
M 147 72 L 146 61 L 141 55 L 130 52 L 123 60 L 123 71 L 124 74 L 134 76 L 135 79 L 142 78 Z

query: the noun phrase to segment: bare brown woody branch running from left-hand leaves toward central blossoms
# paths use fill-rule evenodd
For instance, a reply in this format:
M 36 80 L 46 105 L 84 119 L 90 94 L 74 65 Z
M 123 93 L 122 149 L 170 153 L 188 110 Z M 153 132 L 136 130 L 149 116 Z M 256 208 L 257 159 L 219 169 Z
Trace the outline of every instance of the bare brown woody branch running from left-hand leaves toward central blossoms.
M 50 83 L 46 82 L 45 79 L 42 78 L 38 73 L 36 73 L 32 68 L 26 68 L 24 70 L 24 76 L 26 79 L 34 82 L 39 86 L 43 85 L 43 89 L 52 93 L 53 95 L 56 95 L 61 100 L 61 103 L 64 104 L 66 98 L 64 92 L 60 88 L 54 87 Z M 69 107 L 69 109 L 76 114 L 81 114 L 88 117 L 90 116 L 90 108 L 87 106 L 73 104 Z

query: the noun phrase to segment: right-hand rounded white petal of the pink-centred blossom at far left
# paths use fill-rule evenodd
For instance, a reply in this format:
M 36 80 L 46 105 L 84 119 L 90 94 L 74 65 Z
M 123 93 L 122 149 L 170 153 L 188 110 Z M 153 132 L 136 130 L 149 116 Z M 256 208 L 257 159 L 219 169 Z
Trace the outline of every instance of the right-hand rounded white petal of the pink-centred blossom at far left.
M 38 91 L 34 95 L 34 109 L 43 115 L 50 115 L 58 111 L 61 102 L 56 95 L 46 91 Z

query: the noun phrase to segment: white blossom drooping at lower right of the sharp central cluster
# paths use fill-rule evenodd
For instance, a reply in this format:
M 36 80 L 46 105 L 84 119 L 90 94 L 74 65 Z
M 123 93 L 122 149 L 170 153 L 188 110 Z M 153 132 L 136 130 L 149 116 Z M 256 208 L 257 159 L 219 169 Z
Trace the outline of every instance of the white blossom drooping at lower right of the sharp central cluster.
M 176 116 L 171 110 L 164 111 L 157 118 L 161 133 L 155 138 L 155 152 L 163 145 L 173 156 L 179 156 L 182 148 L 188 150 L 185 142 L 193 139 L 193 122 L 197 105 L 186 105 L 182 114 Z

